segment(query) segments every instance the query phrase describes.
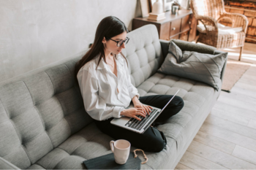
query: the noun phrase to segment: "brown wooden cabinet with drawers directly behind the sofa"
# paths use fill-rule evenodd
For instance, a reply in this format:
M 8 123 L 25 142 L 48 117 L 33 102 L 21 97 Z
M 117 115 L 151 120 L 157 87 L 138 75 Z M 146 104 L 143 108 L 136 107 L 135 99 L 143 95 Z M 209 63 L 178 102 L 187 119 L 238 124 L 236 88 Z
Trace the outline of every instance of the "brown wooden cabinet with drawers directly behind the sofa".
M 148 20 L 147 18 L 134 18 L 132 20 L 132 30 L 154 24 L 157 26 L 159 39 L 182 39 L 184 41 L 193 41 L 196 34 L 196 19 L 193 17 L 191 10 L 181 9 L 178 15 L 172 15 L 165 12 L 165 20 Z

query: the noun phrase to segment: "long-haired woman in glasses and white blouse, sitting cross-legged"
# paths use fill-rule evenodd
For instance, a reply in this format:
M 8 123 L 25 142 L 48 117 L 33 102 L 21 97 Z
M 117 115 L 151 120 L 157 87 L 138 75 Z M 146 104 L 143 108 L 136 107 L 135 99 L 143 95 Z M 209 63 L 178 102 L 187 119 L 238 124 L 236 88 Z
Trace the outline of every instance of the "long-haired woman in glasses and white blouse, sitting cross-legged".
M 128 30 L 116 17 L 104 18 L 97 27 L 91 49 L 78 61 L 75 76 L 86 112 L 94 119 L 97 127 L 114 139 L 126 139 L 132 146 L 148 152 L 160 152 L 166 145 L 165 135 L 154 128 L 176 115 L 184 106 L 182 98 L 176 96 L 143 134 L 137 134 L 110 123 L 114 117 L 150 115 L 151 107 L 162 108 L 172 96 L 141 96 L 132 85 L 127 59 L 121 53 L 129 42 Z M 130 103 L 135 108 L 125 109 Z

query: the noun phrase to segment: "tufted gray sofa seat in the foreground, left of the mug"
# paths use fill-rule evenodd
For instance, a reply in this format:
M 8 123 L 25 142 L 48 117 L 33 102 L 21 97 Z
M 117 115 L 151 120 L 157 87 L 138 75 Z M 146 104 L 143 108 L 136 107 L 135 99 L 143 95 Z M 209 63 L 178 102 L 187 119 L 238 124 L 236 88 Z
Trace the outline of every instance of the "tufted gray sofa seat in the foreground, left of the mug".
M 43 158 L 41 158 L 37 163 L 34 163 L 27 170 L 33 169 L 86 169 L 83 165 L 83 161 L 89 160 L 91 158 L 96 158 L 102 155 L 107 155 L 111 153 L 110 141 L 114 140 L 110 136 L 103 134 L 99 131 L 99 128 L 95 123 L 90 123 L 78 133 L 72 135 L 65 142 L 56 147 L 51 152 L 48 152 Z M 131 147 L 131 152 L 137 148 Z M 166 155 L 166 150 L 164 152 L 159 152 L 159 154 Z M 148 158 L 153 161 L 156 159 L 156 155 L 153 152 L 150 154 L 146 153 Z M 138 152 L 138 158 L 144 160 L 143 155 Z M 157 157 L 161 159 L 162 156 Z M 153 161 L 154 162 L 154 161 Z M 142 169 L 151 169 L 150 166 L 144 164 L 141 166 Z

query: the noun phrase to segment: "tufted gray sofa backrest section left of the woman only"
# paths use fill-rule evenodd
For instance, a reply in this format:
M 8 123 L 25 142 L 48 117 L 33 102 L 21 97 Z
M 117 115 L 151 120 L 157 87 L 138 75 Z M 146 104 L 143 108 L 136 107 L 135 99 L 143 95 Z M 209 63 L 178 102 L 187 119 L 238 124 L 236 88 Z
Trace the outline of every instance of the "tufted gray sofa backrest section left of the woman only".
M 91 123 L 74 82 L 85 53 L 0 85 L 0 156 L 26 169 Z

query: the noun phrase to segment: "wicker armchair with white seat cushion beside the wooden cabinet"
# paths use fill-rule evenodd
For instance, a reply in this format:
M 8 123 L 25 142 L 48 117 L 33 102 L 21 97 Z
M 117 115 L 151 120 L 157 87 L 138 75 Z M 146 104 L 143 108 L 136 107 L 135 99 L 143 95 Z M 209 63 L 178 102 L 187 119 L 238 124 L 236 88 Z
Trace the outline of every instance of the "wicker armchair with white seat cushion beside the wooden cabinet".
M 191 0 L 190 7 L 195 18 L 200 20 L 206 28 L 206 33 L 200 33 L 197 42 L 202 42 L 218 49 L 241 47 L 240 61 L 248 26 L 246 16 L 226 12 L 223 0 Z M 242 27 L 243 31 L 234 34 L 219 34 L 217 23 L 222 19 L 230 20 L 231 27 Z

